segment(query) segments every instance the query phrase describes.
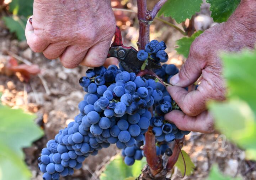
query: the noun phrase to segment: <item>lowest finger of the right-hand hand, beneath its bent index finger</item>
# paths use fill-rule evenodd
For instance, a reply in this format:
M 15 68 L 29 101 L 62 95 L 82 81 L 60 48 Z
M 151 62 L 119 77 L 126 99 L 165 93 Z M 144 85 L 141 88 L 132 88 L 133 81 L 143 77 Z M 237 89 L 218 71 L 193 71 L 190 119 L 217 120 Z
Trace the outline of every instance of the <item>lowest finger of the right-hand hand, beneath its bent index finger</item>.
M 165 115 L 165 120 L 174 123 L 180 130 L 201 133 L 212 133 L 214 131 L 213 117 L 208 111 L 204 111 L 198 116 L 191 117 L 182 111 L 173 110 Z

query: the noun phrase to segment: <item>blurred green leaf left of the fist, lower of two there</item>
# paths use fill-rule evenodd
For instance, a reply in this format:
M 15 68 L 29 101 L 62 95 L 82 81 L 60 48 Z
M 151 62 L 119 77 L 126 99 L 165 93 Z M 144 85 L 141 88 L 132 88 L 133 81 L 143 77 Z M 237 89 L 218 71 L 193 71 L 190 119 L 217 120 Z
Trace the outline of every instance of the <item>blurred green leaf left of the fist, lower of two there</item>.
M 12 17 L 3 17 L 5 25 L 10 30 L 11 33 L 15 33 L 18 40 L 23 41 L 26 40 L 25 36 L 25 27 L 26 27 L 26 19 L 20 18 L 18 16 Z

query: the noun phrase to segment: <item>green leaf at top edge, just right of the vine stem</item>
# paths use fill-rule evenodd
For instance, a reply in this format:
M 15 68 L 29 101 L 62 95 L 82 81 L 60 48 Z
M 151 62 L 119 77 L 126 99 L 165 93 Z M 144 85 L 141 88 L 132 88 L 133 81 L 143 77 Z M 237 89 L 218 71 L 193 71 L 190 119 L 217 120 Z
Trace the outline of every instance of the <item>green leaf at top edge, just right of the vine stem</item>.
M 202 0 L 167 0 L 160 9 L 158 16 L 172 17 L 177 23 L 190 19 L 200 11 Z

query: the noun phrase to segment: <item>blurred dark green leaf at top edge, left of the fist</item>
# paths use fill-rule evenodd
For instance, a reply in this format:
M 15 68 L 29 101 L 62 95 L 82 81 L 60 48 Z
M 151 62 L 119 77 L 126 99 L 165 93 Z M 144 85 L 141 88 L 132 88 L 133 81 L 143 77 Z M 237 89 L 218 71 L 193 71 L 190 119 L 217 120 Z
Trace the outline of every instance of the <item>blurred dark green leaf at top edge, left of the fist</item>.
M 33 0 L 12 0 L 9 4 L 10 12 L 14 15 L 28 17 L 33 14 Z

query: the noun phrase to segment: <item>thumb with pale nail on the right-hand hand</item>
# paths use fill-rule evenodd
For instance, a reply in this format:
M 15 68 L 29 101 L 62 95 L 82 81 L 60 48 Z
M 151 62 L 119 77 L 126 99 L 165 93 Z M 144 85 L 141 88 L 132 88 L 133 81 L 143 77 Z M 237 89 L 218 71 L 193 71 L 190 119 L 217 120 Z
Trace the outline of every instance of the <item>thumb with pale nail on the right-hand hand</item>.
M 187 87 L 197 81 L 202 74 L 203 68 L 204 65 L 190 54 L 186 62 L 182 65 L 180 72 L 172 76 L 170 83 L 175 86 Z

